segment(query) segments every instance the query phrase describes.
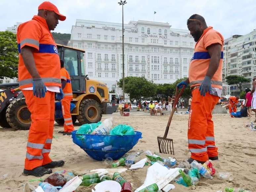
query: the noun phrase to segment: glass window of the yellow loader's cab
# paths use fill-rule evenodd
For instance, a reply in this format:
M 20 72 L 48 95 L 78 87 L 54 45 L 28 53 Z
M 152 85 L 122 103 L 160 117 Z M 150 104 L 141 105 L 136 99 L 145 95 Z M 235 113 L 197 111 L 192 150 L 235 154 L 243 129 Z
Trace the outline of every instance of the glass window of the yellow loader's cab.
M 65 49 L 64 51 L 64 67 L 70 76 L 79 75 L 77 51 Z

